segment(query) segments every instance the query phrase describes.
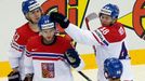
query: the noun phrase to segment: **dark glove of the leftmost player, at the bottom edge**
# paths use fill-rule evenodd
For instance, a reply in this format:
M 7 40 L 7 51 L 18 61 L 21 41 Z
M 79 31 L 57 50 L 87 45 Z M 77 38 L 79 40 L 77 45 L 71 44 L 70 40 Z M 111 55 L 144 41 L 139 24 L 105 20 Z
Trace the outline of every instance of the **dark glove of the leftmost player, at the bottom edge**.
M 18 71 L 17 72 L 11 71 L 8 75 L 8 79 L 9 79 L 9 81 L 21 81 L 21 75 Z

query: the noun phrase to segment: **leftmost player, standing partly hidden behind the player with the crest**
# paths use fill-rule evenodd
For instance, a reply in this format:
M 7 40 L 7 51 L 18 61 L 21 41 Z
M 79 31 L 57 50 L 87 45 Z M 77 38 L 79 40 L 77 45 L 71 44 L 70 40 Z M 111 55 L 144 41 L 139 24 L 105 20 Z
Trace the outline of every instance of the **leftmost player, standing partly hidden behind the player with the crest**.
M 19 77 L 23 80 L 24 77 L 24 50 L 27 40 L 30 37 L 38 36 L 38 21 L 42 15 L 42 10 L 36 0 L 25 0 L 22 3 L 22 11 L 28 21 L 25 25 L 16 29 L 13 37 L 9 59 L 12 67 L 12 72 L 9 75 L 10 81 L 18 81 Z M 21 73 L 21 76 L 19 76 Z

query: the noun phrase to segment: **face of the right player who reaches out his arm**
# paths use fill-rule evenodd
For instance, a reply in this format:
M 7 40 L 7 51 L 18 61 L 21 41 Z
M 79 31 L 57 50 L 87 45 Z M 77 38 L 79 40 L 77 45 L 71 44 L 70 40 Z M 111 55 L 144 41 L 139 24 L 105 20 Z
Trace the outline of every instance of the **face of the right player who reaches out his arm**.
M 100 19 L 103 26 L 109 26 L 114 21 L 109 15 L 105 15 L 105 14 L 102 14 Z

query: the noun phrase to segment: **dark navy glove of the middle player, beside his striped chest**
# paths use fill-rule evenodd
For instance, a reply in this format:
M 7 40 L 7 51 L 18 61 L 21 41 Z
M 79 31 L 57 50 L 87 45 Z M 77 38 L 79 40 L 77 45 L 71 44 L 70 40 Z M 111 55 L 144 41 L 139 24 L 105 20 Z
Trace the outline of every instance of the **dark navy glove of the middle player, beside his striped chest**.
M 77 68 L 80 65 L 81 59 L 75 49 L 68 49 L 65 53 L 65 57 L 71 67 Z

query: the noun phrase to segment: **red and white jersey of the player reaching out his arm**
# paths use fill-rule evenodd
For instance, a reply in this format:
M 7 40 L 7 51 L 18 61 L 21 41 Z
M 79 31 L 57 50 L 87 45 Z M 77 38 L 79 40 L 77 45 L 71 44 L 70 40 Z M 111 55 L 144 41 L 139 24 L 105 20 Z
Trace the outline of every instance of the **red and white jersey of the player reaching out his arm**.
M 132 80 L 130 72 L 130 57 L 124 44 L 126 31 L 120 23 L 113 26 L 100 27 L 94 31 L 79 29 L 76 25 L 69 24 L 65 31 L 78 43 L 95 45 L 96 60 L 98 65 L 98 80 L 107 81 L 104 77 L 104 60 L 108 57 L 117 57 L 123 62 L 124 70 L 121 80 Z

